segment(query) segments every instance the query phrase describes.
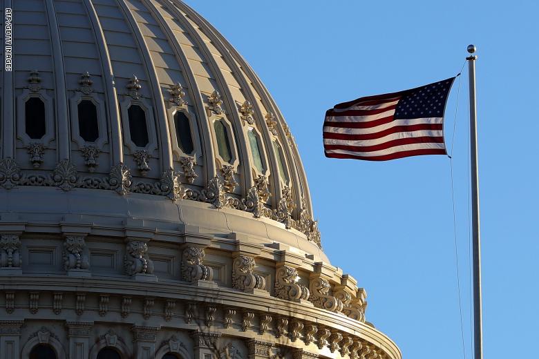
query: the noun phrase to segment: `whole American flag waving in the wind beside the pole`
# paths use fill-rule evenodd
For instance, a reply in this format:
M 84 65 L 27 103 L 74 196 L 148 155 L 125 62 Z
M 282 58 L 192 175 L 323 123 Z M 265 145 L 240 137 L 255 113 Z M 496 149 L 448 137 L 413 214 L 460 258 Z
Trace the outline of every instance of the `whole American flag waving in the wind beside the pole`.
M 386 161 L 446 155 L 444 110 L 454 80 L 335 105 L 325 113 L 325 157 Z

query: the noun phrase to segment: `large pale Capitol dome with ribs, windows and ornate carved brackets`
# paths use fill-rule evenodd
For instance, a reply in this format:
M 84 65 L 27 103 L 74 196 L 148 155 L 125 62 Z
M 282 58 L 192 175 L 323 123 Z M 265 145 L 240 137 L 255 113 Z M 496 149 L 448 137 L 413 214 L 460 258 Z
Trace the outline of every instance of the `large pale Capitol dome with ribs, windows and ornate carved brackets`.
M 12 30 L 0 359 L 401 358 L 211 24 L 178 0 L 17 0 Z

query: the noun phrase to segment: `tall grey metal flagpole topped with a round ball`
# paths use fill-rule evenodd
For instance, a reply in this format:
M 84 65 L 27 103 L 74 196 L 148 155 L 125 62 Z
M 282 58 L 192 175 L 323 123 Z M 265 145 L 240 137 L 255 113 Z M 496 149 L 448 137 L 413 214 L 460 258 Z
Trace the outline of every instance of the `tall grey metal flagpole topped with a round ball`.
M 472 199 L 473 251 L 473 347 L 474 358 L 483 358 L 483 324 L 481 305 L 481 240 L 479 229 L 479 173 L 477 171 L 477 111 L 475 109 L 475 46 L 469 45 L 468 73 L 470 90 L 470 166 Z

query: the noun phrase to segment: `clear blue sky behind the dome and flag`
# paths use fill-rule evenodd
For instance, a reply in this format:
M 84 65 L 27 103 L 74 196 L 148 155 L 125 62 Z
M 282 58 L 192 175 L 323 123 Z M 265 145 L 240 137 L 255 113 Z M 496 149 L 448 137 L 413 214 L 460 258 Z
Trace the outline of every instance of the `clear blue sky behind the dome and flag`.
M 276 99 L 308 174 L 332 264 L 368 291 L 367 318 L 404 358 L 464 358 L 449 160 L 326 159 L 325 110 L 455 75 L 477 46 L 484 357 L 534 356 L 539 329 L 537 1 L 187 1 Z M 446 109 L 451 142 L 457 82 Z M 471 358 L 467 72 L 454 175 L 466 358 Z M 451 145 L 450 145 L 451 146 Z

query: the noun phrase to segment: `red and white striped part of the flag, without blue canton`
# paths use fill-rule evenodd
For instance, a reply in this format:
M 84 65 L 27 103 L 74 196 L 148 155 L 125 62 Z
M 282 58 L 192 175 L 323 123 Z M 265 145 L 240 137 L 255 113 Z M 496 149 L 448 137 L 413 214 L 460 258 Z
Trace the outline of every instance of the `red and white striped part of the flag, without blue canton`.
M 445 155 L 443 117 L 394 119 L 401 93 L 362 97 L 325 113 L 326 157 L 385 161 Z

